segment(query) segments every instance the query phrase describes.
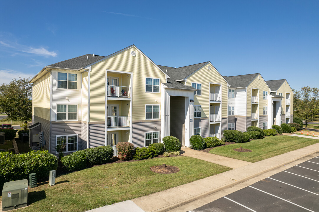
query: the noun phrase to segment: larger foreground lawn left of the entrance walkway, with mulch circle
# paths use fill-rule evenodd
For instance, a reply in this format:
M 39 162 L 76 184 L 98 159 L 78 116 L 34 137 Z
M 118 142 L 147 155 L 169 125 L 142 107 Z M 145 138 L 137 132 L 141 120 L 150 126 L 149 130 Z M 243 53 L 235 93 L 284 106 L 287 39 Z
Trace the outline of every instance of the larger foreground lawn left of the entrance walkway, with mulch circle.
M 174 174 L 158 174 L 151 166 L 178 166 Z M 231 170 L 226 166 L 189 157 L 147 159 L 127 163 L 95 166 L 60 175 L 56 185 L 48 182 L 29 188 L 31 205 L 17 211 L 85 211 L 134 199 L 168 188 Z

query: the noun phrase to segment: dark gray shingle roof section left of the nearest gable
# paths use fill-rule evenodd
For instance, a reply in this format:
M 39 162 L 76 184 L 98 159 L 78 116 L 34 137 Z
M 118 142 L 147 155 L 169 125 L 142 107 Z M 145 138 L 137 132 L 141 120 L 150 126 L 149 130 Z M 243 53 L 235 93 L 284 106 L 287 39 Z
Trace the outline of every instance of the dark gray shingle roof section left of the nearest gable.
M 57 67 L 57 68 L 70 68 L 70 69 L 79 69 L 86 65 L 89 65 L 93 62 L 96 62 L 105 56 L 99 56 L 95 55 L 93 57 L 93 54 L 85 54 L 79 57 L 75 57 L 69 60 L 63 60 L 61 62 L 51 64 L 50 67 Z

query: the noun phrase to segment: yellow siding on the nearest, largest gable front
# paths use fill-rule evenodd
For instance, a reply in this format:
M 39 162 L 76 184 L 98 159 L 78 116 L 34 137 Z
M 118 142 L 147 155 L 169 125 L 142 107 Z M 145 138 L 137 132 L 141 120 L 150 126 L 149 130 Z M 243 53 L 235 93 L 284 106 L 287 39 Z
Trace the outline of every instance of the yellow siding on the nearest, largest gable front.
M 136 52 L 136 56 L 131 55 Z M 134 46 L 92 66 L 90 79 L 90 122 L 104 121 L 105 117 L 105 70 L 133 73 L 132 114 L 133 120 L 145 119 L 145 104 L 161 104 L 160 93 L 145 92 L 145 77 L 160 78 L 166 82 L 166 75 L 154 66 Z M 123 74 L 126 77 L 127 74 Z M 125 79 L 127 82 L 128 79 Z M 125 85 L 126 86 L 126 85 Z M 155 101 L 157 100 L 157 101 Z M 160 108 L 161 110 L 161 108 Z M 160 113 L 159 113 L 160 114 Z

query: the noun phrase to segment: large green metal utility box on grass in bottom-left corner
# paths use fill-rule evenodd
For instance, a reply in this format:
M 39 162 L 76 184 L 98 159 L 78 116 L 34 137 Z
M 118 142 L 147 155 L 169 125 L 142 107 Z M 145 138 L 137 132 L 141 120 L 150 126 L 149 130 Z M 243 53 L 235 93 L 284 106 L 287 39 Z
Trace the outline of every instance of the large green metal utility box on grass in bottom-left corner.
M 2 211 L 28 205 L 28 180 L 6 182 L 2 190 Z

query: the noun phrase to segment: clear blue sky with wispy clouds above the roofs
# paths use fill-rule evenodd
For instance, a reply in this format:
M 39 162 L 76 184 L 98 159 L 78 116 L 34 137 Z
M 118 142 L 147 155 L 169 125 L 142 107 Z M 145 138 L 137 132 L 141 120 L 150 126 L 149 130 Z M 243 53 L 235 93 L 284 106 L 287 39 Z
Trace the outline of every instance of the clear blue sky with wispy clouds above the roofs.
M 135 44 L 156 64 L 319 87 L 319 1 L 1 1 L 0 83 Z

